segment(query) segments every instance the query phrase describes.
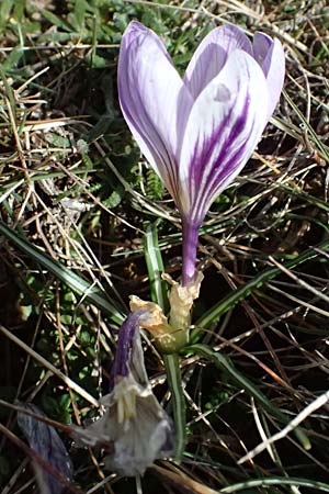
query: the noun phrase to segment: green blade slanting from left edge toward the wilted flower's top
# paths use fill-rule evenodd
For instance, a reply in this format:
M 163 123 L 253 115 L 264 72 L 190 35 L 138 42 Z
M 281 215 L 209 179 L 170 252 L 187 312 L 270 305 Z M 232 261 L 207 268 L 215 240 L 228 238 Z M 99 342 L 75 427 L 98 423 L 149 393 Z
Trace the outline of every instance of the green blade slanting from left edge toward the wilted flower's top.
M 77 295 L 83 296 L 86 302 L 89 302 L 103 311 L 113 323 L 123 323 L 125 317 L 124 312 L 109 296 L 103 295 L 100 289 L 93 287 L 60 262 L 55 261 L 49 256 L 42 252 L 23 236 L 3 224 L 0 224 L 0 235 L 3 235 L 35 262 L 38 262 L 43 268 L 55 274 L 56 278 L 66 283 Z

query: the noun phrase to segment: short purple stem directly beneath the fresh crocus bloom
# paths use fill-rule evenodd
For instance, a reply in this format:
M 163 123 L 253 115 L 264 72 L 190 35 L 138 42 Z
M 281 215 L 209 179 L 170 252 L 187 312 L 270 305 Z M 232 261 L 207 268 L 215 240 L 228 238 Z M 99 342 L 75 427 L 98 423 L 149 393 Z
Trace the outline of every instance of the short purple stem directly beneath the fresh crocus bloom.
M 182 285 L 186 287 L 195 278 L 196 249 L 200 225 L 183 218 L 183 266 Z

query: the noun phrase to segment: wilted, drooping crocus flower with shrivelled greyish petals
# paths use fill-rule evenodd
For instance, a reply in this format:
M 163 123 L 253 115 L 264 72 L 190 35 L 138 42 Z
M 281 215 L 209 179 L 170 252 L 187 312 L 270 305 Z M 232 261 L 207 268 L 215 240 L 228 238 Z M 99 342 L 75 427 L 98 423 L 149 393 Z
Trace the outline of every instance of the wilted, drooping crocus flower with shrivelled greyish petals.
M 126 476 L 144 474 L 157 458 L 173 450 L 172 423 L 152 393 L 144 364 L 139 326 L 149 317 L 146 311 L 136 311 L 122 325 L 112 391 L 102 400 L 105 413 L 73 433 L 79 442 L 104 448 L 106 468 Z

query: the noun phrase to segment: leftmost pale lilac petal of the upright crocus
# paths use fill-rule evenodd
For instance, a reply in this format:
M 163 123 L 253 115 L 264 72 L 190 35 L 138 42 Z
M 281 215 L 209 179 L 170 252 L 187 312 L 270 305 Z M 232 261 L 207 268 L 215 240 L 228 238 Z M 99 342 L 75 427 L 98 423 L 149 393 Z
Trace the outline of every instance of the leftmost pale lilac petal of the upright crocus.
M 159 37 L 138 22 L 125 31 L 118 97 L 141 153 L 177 198 L 177 159 L 192 98 Z

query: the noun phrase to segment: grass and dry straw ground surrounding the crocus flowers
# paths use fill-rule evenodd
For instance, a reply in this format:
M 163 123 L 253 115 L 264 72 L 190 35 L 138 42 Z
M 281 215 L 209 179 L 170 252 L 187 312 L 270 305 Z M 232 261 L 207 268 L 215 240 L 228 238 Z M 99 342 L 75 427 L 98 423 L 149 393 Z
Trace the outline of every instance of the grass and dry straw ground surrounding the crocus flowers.
M 118 46 L 133 19 L 161 35 L 180 72 L 222 23 L 277 36 L 287 65 L 257 151 L 202 228 L 205 280 L 181 362 L 182 461 L 158 462 L 141 480 L 109 473 L 102 451 L 65 434 L 99 416 L 128 295 L 163 295 L 159 272 L 149 280 L 151 256 L 159 262 L 160 249 L 173 278 L 181 269 L 178 214 L 117 102 Z M 2 0 L 3 494 L 36 485 L 14 414 L 29 402 L 63 425 L 75 465 L 67 492 L 329 492 L 328 32 L 322 0 Z M 147 339 L 145 352 L 172 413 L 163 361 Z

